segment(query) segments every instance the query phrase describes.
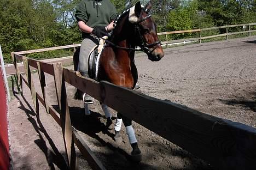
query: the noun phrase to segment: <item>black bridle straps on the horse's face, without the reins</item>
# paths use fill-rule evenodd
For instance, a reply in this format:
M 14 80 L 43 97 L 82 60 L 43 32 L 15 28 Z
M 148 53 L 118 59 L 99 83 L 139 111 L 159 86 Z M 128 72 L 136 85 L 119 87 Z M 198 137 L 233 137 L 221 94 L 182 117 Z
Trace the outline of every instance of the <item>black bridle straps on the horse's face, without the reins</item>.
M 147 44 L 146 40 L 144 39 L 144 37 L 141 34 L 141 28 L 139 28 L 139 23 L 146 21 L 147 19 L 149 19 L 151 17 L 151 14 L 149 14 L 148 16 L 144 17 L 143 19 L 139 20 L 136 24 L 135 24 L 135 33 L 138 32 L 139 38 L 141 40 L 142 45 L 140 45 L 141 47 L 141 51 L 150 54 L 152 53 L 155 48 L 157 48 L 159 45 L 161 45 L 161 41 L 155 41 L 152 44 Z M 149 48 L 153 48 L 152 50 L 150 50 Z

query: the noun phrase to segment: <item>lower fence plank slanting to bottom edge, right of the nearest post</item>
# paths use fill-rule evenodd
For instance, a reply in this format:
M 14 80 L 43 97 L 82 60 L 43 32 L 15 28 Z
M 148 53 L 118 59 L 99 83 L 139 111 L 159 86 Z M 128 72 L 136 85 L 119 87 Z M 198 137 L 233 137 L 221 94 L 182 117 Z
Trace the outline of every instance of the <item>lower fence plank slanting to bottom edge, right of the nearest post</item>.
M 77 131 L 75 129 L 72 130 L 73 132 L 73 138 L 75 145 L 77 145 L 80 152 L 83 154 L 85 159 L 88 161 L 90 167 L 92 169 L 96 170 L 103 170 L 105 169 L 102 165 L 101 161 L 97 159 L 97 157 L 92 153 L 91 149 L 88 147 L 88 145 L 83 141 L 83 139 L 79 136 Z

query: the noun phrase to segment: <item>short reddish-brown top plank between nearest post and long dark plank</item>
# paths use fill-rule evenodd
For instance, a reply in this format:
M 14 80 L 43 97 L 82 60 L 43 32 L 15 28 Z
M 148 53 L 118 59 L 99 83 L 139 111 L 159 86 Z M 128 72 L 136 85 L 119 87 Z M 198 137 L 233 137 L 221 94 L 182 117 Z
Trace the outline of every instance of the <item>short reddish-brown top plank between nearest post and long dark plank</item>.
M 98 101 L 101 101 L 101 88 L 99 82 L 81 76 L 78 71 L 63 69 L 63 74 L 66 82 L 82 92 L 88 93 Z

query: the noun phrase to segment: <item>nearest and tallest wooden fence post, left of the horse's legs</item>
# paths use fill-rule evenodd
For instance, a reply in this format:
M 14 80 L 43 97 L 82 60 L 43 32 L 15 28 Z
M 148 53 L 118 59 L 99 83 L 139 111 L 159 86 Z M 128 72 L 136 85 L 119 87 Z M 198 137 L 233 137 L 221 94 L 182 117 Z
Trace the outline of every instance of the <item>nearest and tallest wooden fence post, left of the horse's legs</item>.
M 71 169 L 76 169 L 77 166 L 76 166 L 74 139 L 72 137 L 72 126 L 71 126 L 71 119 L 70 119 L 68 102 L 67 102 L 65 80 L 62 75 L 62 72 L 63 72 L 62 64 L 61 63 L 53 64 L 53 69 L 54 69 L 54 80 L 55 80 L 57 101 L 60 108 L 61 128 L 62 128 L 63 139 L 65 143 L 68 166 Z

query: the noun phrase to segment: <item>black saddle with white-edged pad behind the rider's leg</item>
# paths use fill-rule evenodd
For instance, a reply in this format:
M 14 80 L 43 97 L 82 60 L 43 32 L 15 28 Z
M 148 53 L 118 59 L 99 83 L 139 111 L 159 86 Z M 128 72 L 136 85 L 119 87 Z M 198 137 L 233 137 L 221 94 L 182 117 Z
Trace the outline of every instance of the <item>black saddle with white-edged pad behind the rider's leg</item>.
M 108 37 L 103 37 L 107 39 Z M 105 47 L 105 40 L 101 39 L 99 45 L 95 46 L 88 57 L 88 75 L 94 80 L 98 80 L 98 69 L 100 63 L 101 52 Z

